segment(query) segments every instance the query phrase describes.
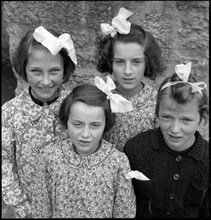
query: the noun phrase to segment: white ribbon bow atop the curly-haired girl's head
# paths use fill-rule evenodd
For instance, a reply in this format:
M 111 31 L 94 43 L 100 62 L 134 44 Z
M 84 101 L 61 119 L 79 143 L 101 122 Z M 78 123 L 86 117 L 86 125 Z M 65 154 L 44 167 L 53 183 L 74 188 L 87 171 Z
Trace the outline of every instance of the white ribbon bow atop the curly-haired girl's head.
M 107 23 L 100 25 L 101 31 L 104 35 L 111 34 L 111 37 L 115 36 L 117 32 L 120 34 L 128 34 L 130 32 L 131 23 L 126 19 L 133 13 L 125 8 L 120 8 L 119 13 L 112 20 L 112 26 Z

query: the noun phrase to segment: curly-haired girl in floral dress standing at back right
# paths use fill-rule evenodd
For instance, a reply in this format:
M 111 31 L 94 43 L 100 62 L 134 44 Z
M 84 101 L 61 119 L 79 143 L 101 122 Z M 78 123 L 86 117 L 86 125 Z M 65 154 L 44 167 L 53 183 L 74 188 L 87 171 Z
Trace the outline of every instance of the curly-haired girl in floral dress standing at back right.
M 141 26 L 126 19 L 133 13 L 121 8 L 112 26 L 101 24 L 102 36 L 97 37 L 97 70 L 112 74 L 116 93 L 133 103 L 133 110 L 118 113 L 114 127 L 106 140 L 123 151 L 125 142 L 158 126 L 155 116 L 157 91 L 143 82 L 155 79 L 164 70 L 161 49 L 154 37 Z

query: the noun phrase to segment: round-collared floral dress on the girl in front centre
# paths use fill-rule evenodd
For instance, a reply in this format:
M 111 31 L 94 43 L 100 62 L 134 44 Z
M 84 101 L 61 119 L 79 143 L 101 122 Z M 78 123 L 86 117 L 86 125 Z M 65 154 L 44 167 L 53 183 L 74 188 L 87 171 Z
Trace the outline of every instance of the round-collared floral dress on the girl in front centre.
M 127 156 L 102 141 L 89 156 L 76 153 L 70 138 L 58 140 L 40 158 L 34 190 L 38 218 L 134 218 L 136 200 Z

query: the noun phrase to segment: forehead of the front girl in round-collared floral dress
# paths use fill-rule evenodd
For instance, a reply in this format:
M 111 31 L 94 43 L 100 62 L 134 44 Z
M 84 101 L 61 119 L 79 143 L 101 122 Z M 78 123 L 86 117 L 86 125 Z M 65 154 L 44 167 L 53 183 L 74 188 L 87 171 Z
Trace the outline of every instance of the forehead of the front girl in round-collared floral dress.
M 87 122 L 104 120 L 105 112 L 100 106 L 91 106 L 77 101 L 70 107 L 69 117 Z

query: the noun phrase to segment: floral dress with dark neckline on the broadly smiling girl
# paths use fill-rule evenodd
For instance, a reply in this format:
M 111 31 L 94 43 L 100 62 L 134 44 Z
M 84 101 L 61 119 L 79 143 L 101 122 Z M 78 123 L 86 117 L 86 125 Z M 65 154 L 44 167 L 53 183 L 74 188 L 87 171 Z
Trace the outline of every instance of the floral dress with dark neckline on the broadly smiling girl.
M 31 213 L 37 157 L 44 143 L 61 132 L 58 110 L 69 92 L 62 86 L 55 102 L 40 106 L 26 88 L 2 106 L 2 197 L 17 217 Z

